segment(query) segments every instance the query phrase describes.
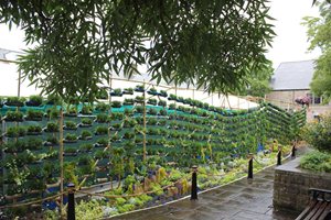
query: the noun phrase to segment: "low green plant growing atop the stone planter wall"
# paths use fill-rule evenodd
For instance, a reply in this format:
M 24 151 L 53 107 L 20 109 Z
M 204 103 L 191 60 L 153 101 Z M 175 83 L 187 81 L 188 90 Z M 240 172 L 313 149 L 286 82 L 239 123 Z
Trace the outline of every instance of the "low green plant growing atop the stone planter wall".
M 310 152 L 301 157 L 300 167 L 314 172 L 331 173 L 331 154 L 318 151 Z

